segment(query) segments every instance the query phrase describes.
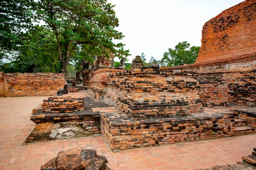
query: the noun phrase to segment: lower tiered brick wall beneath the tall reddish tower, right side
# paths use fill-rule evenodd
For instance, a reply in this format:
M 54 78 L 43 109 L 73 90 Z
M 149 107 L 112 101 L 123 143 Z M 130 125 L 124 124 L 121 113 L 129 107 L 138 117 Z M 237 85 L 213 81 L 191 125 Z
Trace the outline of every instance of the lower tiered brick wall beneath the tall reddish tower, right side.
M 169 68 L 197 72 L 204 106 L 256 107 L 256 53 Z M 211 92 L 205 95 L 205 92 Z

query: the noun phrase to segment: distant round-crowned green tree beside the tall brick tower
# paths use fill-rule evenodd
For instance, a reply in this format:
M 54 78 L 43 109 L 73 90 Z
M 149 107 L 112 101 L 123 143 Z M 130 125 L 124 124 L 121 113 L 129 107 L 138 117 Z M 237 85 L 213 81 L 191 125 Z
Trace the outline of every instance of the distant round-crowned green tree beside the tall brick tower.
M 199 46 L 190 47 L 186 41 L 180 42 L 174 50 L 169 48 L 168 52 L 164 53 L 162 62 L 167 63 L 168 67 L 195 63 L 199 49 Z

